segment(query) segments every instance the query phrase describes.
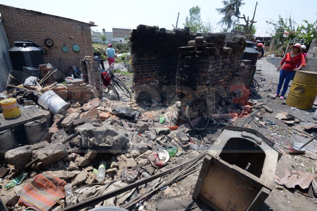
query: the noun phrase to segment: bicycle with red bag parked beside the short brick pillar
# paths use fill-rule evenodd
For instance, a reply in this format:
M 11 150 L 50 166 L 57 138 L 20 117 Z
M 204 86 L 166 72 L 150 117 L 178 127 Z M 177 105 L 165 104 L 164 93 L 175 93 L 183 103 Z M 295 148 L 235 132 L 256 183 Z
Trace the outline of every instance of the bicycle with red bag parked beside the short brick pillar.
M 113 90 L 114 95 L 118 100 L 120 100 L 120 95 L 119 92 L 129 98 L 132 98 L 132 95 L 126 85 L 123 83 L 123 81 L 116 75 L 112 73 L 112 71 L 115 70 L 114 64 L 110 65 L 109 68 L 105 71 L 107 71 L 107 75 L 104 78 L 107 78 L 109 75 L 110 77 L 110 87 L 108 86 L 108 91 L 105 91 L 106 94 L 109 93 L 110 89 Z M 100 73 L 105 72 L 105 71 L 99 71 Z M 102 80 L 101 80 L 102 84 Z M 118 92 L 119 90 L 119 92 Z

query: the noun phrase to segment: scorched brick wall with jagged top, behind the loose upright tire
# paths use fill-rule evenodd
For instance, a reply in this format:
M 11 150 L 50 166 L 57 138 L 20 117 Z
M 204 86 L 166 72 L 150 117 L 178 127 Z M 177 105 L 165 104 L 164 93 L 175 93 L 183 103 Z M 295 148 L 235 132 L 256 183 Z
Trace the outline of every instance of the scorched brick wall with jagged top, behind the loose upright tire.
M 222 100 L 238 103 L 249 96 L 246 81 L 249 76 L 249 60 L 241 56 L 246 47 L 245 37 L 234 37 L 225 45 L 225 35 L 209 33 L 179 48 L 176 92 L 182 102 L 178 117 L 184 120 L 188 102 L 195 96 L 204 98 L 214 111 Z M 195 105 L 192 113 L 203 113 Z M 212 112 L 211 111 L 211 112 Z

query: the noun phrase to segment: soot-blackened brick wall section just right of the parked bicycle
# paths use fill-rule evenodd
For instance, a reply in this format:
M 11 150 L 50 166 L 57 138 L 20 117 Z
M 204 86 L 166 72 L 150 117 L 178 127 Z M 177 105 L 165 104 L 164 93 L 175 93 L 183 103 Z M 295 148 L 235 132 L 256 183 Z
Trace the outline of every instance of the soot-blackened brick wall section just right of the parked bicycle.
M 175 96 L 178 47 L 195 39 L 189 28 L 166 31 L 139 25 L 130 33 L 135 100 Z

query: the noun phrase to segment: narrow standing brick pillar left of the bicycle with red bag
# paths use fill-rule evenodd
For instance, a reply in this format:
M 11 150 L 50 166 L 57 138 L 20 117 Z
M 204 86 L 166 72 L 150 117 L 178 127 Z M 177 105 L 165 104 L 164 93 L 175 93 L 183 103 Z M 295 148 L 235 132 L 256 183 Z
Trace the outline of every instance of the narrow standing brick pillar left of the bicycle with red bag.
M 88 84 L 94 90 L 94 96 L 102 98 L 102 85 L 100 79 L 100 72 L 98 70 L 98 62 L 94 61 L 93 57 L 85 56 L 86 65 L 82 65 L 84 67 L 83 71 L 87 71 Z

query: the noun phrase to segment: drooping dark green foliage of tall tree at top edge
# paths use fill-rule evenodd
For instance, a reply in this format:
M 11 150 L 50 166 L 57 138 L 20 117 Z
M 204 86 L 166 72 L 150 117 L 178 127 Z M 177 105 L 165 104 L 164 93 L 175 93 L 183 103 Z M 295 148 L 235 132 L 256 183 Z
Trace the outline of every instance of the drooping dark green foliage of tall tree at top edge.
M 239 23 L 240 7 L 245 3 L 243 3 L 243 0 L 224 0 L 222 3 L 223 8 L 216 9 L 219 15 L 223 15 L 218 25 L 224 25 L 229 29 Z

